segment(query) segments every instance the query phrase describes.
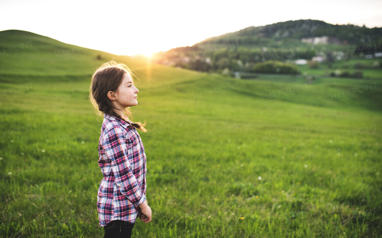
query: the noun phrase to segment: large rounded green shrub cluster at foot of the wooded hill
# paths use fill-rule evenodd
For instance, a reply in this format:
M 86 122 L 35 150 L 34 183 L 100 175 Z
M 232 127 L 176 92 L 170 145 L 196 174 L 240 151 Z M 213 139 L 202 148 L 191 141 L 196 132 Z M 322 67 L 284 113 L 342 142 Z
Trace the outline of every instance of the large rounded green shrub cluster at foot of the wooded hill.
M 299 73 L 296 65 L 271 60 L 255 64 L 252 71 L 255 73 Z

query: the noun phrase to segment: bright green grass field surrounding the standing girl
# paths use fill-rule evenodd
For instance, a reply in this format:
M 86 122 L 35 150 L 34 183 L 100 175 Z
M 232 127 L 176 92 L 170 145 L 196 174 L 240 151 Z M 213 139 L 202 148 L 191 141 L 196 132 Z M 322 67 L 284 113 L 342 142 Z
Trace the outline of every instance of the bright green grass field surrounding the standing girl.
M 133 237 L 382 235 L 381 81 L 238 80 L 91 49 L 57 61 L 77 46 L 0 32 L 0 48 L 31 40 L 0 52 L 1 237 L 103 236 L 87 87 L 113 57 L 140 79 L 131 109 L 149 129 L 153 220 Z

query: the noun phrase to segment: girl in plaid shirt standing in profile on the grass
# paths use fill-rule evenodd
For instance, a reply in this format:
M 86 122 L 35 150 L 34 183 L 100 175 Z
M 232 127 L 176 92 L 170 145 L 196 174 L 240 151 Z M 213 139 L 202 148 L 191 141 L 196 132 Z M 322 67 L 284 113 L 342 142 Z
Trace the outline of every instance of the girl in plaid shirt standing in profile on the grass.
M 146 154 L 136 130 L 146 132 L 146 123 L 128 119 L 133 119 L 129 107 L 138 104 L 139 90 L 132 76 L 125 64 L 115 61 L 102 64 L 92 76 L 90 100 L 97 114 L 104 114 L 98 146 L 104 178 L 97 197 L 104 238 L 131 237 L 137 216 L 145 223 L 151 221 L 146 201 Z

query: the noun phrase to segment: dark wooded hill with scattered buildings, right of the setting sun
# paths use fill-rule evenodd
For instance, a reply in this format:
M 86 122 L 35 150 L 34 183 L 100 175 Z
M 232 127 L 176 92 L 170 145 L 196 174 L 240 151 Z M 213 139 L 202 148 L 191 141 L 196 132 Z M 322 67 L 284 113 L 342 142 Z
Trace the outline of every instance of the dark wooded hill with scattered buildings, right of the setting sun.
M 193 46 L 159 52 L 154 54 L 153 60 L 164 65 L 233 75 L 237 71 L 256 72 L 254 65 L 259 62 L 294 62 L 315 56 L 322 57 L 324 69 L 331 70 L 337 61 L 361 60 L 365 55 L 373 58 L 377 52 L 382 52 L 382 28 L 333 25 L 309 19 L 247 27 L 207 38 Z

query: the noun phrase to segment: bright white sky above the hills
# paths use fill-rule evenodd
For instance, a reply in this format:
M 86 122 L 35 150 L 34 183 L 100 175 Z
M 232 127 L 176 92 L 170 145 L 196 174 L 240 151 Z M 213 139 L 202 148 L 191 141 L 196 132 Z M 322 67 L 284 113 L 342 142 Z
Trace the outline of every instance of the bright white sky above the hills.
M 288 20 L 382 27 L 381 0 L 0 0 L 0 9 L 0 30 L 26 30 L 117 55 L 167 51 Z

